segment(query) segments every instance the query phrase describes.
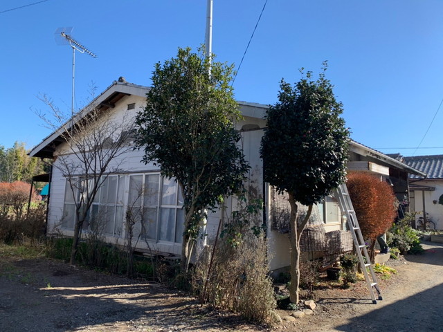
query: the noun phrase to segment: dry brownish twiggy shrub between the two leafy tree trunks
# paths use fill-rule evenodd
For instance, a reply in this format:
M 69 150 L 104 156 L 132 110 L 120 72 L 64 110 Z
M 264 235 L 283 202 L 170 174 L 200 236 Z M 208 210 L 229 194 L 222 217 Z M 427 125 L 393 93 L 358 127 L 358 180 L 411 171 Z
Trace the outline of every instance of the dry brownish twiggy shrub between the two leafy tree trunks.
M 240 204 L 245 201 L 240 200 Z M 255 201 L 253 206 L 256 208 Z M 210 261 L 201 255 L 192 275 L 192 289 L 201 302 L 240 313 L 255 322 L 273 324 L 276 306 L 269 277 L 267 242 L 258 232 L 258 211 L 246 205 L 225 225 Z M 248 211 L 251 212 L 246 218 Z

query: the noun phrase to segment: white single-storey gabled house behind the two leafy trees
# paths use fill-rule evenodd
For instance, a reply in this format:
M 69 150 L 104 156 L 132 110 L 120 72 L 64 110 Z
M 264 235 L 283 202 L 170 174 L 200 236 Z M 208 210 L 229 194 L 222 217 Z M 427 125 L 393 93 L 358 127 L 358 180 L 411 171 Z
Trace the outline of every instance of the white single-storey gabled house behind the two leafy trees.
M 149 88 L 130 84 L 127 82 L 114 82 L 95 100 L 94 105 L 99 105 L 102 111 L 113 112 L 115 116 L 136 111 L 145 105 L 145 95 Z M 263 183 L 262 160 L 260 159 L 260 140 L 266 126 L 264 114 L 267 105 L 248 102 L 238 102 L 239 109 L 244 117 L 237 122 L 235 127 L 242 133 L 239 144 L 251 165 L 246 188 L 254 196 L 264 199 L 265 210 L 263 220 L 268 225 L 266 233 L 269 239 L 271 252 L 270 267 L 272 270 L 289 266 L 289 239 L 287 234 L 282 234 L 271 227 L 273 221 L 271 210 L 275 210 L 275 193 L 269 185 Z M 74 214 L 73 199 L 69 185 L 62 173 L 57 169 L 57 156 L 64 150 L 64 141 L 60 132 L 55 131 L 45 138 L 39 145 L 30 151 L 30 156 L 39 158 L 54 158 L 53 173 L 51 175 L 50 200 L 48 204 L 48 232 L 62 232 L 68 236 L 73 235 Z M 64 152 L 66 153 L 66 152 Z M 144 230 L 136 229 L 143 241 L 138 241 L 136 250 L 156 250 L 169 255 L 180 255 L 181 234 L 183 232 L 183 210 L 180 190 L 174 179 L 163 178 L 158 165 L 141 163 L 142 150 L 127 151 L 114 161 L 118 171 L 109 173 L 104 185 L 100 188 L 98 197 L 93 203 L 93 214 L 106 211 L 105 237 L 110 243 L 123 245 L 125 243 L 125 227 L 123 216 L 125 208 L 134 198 L 132 197 L 137 187 L 143 187 L 144 198 L 139 205 L 143 211 Z M 379 174 L 389 179 L 394 185 L 397 195 L 407 195 L 408 174 L 422 176 L 412 167 L 390 158 L 379 151 L 365 147 L 358 142 L 350 142 L 349 169 Z M 112 165 L 109 169 L 113 169 Z M 80 177 L 82 174 L 78 174 Z M 276 207 L 278 208 L 278 207 Z M 235 209 L 235 200 L 231 197 L 225 200 L 225 205 L 208 216 L 206 232 L 209 239 L 214 239 L 219 223 L 223 223 L 226 216 Z M 316 214 L 319 216 L 325 230 L 343 229 L 343 220 L 334 199 L 326 197 L 318 205 Z M 87 231 L 87 230 L 84 230 Z

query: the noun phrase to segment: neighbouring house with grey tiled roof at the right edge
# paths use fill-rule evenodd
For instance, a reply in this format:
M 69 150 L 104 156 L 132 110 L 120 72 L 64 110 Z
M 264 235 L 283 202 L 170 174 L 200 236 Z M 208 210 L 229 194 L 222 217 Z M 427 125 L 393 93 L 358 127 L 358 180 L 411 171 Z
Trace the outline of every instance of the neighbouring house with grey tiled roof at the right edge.
M 401 157 L 404 163 L 426 173 L 425 178 L 410 174 L 410 208 L 417 212 L 416 219 L 424 214 L 443 229 L 443 155 Z

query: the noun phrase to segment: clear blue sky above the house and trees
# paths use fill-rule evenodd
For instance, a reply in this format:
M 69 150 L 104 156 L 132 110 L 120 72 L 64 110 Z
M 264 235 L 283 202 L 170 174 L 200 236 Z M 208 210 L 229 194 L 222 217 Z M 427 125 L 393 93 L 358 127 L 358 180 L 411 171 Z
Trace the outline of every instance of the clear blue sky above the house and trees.
M 98 55 L 76 54 L 76 104 L 100 93 L 119 76 L 149 85 L 155 62 L 179 46 L 204 43 L 206 0 L 3 0 L 0 3 L 0 145 L 33 147 L 48 135 L 36 110 L 46 93 L 71 107 L 69 46 L 55 30 L 73 26 L 73 37 Z M 213 52 L 236 66 L 264 0 L 214 0 Z M 298 69 L 327 78 L 344 105 L 352 138 L 385 153 L 414 153 L 443 99 L 443 1 L 269 0 L 235 80 L 235 98 L 273 104 L 284 77 Z M 415 155 L 443 154 L 443 107 Z M 399 149 L 409 147 L 411 149 Z M 392 149 L 387 149 L 392 148 Z

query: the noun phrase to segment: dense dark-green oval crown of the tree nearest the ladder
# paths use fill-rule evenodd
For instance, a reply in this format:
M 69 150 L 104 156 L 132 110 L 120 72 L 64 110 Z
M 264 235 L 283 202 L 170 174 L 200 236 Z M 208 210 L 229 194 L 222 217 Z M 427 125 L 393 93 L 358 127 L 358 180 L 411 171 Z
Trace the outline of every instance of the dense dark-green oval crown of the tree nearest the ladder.
M 349 130 L 332 88 L 325 68 L 316 81 L 311 73 L 295 86 L 282 80 L 278 102 L 266 113 L 265 181 L 303 205 L 318 203 L 345 180 Z

